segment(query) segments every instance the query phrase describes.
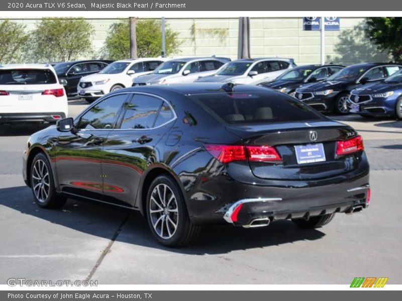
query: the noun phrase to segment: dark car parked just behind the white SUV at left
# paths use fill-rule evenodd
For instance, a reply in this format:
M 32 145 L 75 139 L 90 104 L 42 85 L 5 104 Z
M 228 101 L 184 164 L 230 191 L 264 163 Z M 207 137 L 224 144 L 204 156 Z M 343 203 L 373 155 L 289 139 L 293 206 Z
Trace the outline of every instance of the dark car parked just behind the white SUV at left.
M 71 97 L 77 95 L 77 85 L 81 77 L 97 73 L 112 62 L 110 60 L 73 61 L 56 64 L 53 68 L 67 96 Z

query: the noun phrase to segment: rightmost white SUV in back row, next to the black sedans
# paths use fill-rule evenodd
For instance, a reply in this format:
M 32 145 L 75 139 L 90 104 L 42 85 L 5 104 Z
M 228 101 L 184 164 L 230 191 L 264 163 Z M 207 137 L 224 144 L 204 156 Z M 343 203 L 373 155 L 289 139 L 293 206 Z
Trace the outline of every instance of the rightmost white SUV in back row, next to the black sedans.
M 258 85 L 271 81 L 288 69 L 296 67 L 293 59 L 240 59 L 222 66 L 215 74 L 201 77 L 196 82 L 219 82 Z

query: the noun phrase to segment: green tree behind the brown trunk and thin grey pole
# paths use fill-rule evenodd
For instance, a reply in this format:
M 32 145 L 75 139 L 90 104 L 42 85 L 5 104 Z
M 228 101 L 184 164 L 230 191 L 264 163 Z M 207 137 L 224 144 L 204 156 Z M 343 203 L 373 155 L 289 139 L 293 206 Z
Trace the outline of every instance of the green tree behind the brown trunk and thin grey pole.
M 166 30 L 166 55 L 175 53 L 180 46 L 178 32 Z M 137 54 L 138 57 L 157 57 L 161 55 L 162 34 L 161 22 L 154 19 L 137 19 Z M 104 52 L 113 60 L 121 60 L 130 57 L 130 26 L 129 20 L 121 20 L 114 23 L 109 29 L 105 42 Z

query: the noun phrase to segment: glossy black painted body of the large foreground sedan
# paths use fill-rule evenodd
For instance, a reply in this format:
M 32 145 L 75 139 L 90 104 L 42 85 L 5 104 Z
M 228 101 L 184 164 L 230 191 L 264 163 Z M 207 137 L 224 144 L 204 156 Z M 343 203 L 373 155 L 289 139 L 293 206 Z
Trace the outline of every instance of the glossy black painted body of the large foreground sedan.
M 237 85 L 233 93 L 265 93 L 266 97 L 298 101 L 270 89 Z M 93 129 L 69 132 L 50 126 L 33 134 L 24 154 L 24 179 L 30 185 L 30 168 L 38 152 L 46 154 L 58 193 L 96 200 L 145 213 L 147 190 L 155 177 L 171 177 L 184 196 L 194 225 L 226 223 L 225 213 L 239 200 L 247 203 L 235 225 L 253 219 L 308 218 L 366 207 L 369 166 L 364 151 L 337 157 L 336 141 L 357 135 L 348 125 L 318 113 L 313 121 L 222 124 L 207 113 L 192 95 L 225 92 L 221 84 L 143 86 L 112 92 L 113 95 L 154 95 L 174 109 L 174 118 L 153 129 Z M 264 95 L 265 95 L 264 94 Z M 126 105 L 125 103 L 125 105 Z M 297 105 L 303 104 L 299 103 Z M 117 126 L 122 116 L 118 114 Z M 294 145 L 324 144 L 326 162 L 299 165 Z M 222 164 L 207 152 L 206 144 L 271 145 L 280 162 L 235 161 Z M 280 200 L 279 200 L 280 199 Z

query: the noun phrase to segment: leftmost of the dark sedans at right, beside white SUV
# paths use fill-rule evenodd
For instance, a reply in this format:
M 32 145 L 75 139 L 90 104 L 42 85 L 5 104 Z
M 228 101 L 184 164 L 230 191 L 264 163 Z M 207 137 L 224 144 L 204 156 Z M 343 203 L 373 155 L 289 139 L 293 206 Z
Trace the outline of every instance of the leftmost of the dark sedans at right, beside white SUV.
M 275 80 L 261 83 L 259 86 L 275 89 L 293 96 L 300 86 L 306 83 L 323 81 L 343 68 L 345 66 L 335 64 L 298 66 L 286 71 Z

